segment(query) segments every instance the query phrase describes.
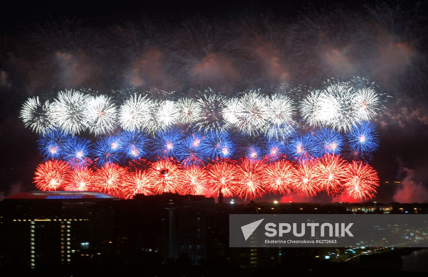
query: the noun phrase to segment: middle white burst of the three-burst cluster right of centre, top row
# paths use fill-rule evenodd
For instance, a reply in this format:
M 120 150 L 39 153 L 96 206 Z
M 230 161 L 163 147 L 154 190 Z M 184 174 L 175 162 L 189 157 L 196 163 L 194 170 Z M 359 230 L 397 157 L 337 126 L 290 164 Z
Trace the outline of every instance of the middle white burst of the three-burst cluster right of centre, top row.
M 259 91 L 249 91 L 242 95 L 243 116 L 238 118 L 238 129 L 253 136 L 265 132 L 268 127 L 268 101 Z

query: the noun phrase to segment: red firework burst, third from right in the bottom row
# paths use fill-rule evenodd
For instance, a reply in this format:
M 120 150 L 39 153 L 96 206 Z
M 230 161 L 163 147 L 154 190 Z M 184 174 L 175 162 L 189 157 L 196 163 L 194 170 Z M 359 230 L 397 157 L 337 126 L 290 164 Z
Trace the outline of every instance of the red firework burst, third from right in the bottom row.
M 321 191 L 321 185 L 315 172 L 316 164 L 315 160 L 307 160 L 294 166 L 291 181 L 297 194 L 313 197 Z

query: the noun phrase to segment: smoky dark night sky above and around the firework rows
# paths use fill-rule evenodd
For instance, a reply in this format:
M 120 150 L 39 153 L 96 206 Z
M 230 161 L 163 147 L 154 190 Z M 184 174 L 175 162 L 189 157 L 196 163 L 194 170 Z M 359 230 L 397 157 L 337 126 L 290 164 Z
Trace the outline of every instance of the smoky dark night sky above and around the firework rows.
M 184 95 L 209 87 L 234 95 L 281 83 L 320 88 L 329 78 L 359 76 L 392 96 L 374 121 L 381 141 L 371 162 L 381 179 L 377 201 L 427 202 L 428 3 L 283 2 L 3 9 L 0 199 L 35 189 L 33 172 L 43 161 L 37 134 L 18 118 L 28 97 L 127 87 Z

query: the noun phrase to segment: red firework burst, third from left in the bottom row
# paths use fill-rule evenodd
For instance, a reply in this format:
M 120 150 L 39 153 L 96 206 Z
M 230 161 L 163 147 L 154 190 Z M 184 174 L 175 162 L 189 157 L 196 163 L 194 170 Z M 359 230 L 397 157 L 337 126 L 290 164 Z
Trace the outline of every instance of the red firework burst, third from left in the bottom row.
M 95 189 L 115 197 L 123 197 L 122 184 L 126 174 L 125 168 L 116 164 L 106 163 L 95 172 Z

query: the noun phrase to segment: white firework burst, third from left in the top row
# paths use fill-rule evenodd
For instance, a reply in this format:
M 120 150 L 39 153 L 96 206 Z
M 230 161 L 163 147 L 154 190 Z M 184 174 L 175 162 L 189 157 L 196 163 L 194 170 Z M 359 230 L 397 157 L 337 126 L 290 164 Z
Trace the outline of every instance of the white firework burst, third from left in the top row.
M 110 97 L 99 95 L 88 101 L 85 109 L 89 131 L 95 136 L 113 132 L 117 127 L 117 108 Z

